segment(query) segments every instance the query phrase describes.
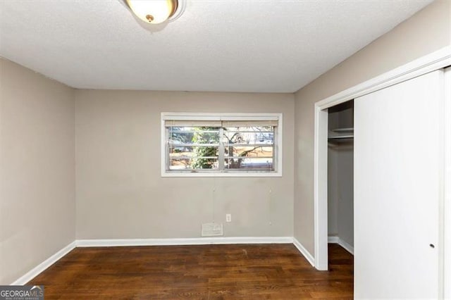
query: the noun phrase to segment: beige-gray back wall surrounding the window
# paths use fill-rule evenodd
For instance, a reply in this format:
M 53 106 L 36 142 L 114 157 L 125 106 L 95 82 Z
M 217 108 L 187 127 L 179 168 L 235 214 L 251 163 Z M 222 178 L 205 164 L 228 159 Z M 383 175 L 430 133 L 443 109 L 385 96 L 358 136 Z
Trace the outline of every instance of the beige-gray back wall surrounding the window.
M 75 107 L 78 239 L 199 237 L 211 221 L 292 236 L 293 94 L 77 90 Z M 161 177 L 161 112 L 283 113 L 283 177 Z

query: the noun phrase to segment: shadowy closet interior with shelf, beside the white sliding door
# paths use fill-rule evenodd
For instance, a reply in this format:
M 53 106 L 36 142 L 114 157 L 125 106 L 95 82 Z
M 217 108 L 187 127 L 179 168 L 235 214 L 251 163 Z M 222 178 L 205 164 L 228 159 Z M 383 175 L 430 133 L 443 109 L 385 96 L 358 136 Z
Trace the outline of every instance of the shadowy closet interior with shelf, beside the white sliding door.
M 354 255 L 354 100 L 328 108 L 327 156 L 328 244 Z

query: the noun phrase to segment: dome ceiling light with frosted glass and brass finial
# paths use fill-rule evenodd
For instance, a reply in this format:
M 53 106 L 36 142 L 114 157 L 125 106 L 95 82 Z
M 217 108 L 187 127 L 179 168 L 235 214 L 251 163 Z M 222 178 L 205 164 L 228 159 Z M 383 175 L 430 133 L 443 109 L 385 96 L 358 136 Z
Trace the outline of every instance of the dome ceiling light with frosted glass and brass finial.
M 125 0 L 135 15 L 149 24 L 175 20 L 185 9 L 185 0 Z

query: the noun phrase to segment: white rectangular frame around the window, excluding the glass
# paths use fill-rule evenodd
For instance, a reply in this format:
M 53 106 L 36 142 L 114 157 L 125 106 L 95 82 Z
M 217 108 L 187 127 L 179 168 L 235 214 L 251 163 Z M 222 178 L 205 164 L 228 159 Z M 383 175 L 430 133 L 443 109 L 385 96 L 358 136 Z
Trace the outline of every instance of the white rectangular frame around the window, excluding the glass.
M 166 170 L 166 120 L 277 120 L 275 129 L 275 165 L 274 170 L 210 170 L 208 172 L 187 172 Z M 161 177 L 281 177 L 283 165 L 283 114 L 282 113 L 161 113 Z

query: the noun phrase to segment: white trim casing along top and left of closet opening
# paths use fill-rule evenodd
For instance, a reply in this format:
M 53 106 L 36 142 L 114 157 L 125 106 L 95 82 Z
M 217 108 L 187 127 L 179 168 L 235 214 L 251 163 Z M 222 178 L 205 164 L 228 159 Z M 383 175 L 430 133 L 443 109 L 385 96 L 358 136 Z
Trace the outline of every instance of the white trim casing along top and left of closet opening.
M 324 118 L 321 113 L 325 109 L 341 104 L 345 101 L 364 96 L 391 85 L 424 75 L 426 73 L 439 70 L 451 65 L 451 46 L 445 46 L 438 51 L 422 56 L 410 63 L 390 70 L 371 80 L 355 85 L 350 89 L 345 89 L 338 94 L 334 94 L 315 104 L 315 128 L 314 128 L 314 241 L 315 241 L 315 262 L 319 270 L 324 267 L 324 261 L 327 261 L 327 252 L 323 251 L 327 247 L 327 238 L 324 237 L 323 228 L 327 228 L 327 213 L 324 218 L 322 213 L 327 212 L 327 172 L 324 172 L 324 165 L 327 165 L 327 131 L 321 130 L 324 126 Z M 327 125 L 327 123 L 326 123 Z M 326 142 L 325 142 L 326 141 Z M 326 155 L 324 153 L 326 152 Z M 326 182 L 326 184 L 324 184 Z M 322 183 L 322 184 L 321 184 Z M 324 226 L 326 223 L 326 226 Z M 321 251 L 322 249 L 322 251 Z

